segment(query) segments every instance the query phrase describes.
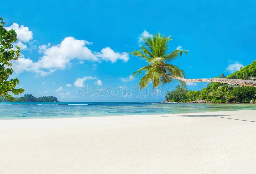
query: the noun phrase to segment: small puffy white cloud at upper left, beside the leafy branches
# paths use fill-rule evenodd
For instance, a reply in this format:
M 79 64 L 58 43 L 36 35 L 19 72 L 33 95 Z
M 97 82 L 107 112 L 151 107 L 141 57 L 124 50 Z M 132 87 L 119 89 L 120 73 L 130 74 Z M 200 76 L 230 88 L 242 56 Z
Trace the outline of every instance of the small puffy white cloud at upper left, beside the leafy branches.
M 17 39 L 21 42 L 29 42 L 31 39 L 33 39 L 33 32 L 29 31 L 29 28 L 24 25 L 19 26 L 19 24 L 13 23 L 11 26 L 6 27 L 5 29 L 14 29 L 17 33 Z

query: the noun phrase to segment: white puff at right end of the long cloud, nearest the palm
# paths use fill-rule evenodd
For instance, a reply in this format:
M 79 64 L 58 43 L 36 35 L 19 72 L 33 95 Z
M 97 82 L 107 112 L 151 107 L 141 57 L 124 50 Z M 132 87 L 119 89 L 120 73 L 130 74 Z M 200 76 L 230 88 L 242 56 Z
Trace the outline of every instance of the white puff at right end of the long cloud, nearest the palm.
M 113 49 L 106 47 L 101 49 L 100 53 L 97 54 L 103 60 L 111 61 L 112 63 L 116 62 L 118 59 L 127 62 L 129 60 L 129 55 L 127 52 L 115 52 Z

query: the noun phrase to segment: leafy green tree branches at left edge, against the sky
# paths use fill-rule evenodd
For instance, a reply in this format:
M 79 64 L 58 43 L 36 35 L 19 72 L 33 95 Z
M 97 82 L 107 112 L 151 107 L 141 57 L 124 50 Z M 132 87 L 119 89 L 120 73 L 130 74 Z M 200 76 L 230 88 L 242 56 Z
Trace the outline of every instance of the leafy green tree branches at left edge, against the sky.
M 24 89 L 15 89 L 19 80 L 9 79 L 13 73 L 10 61 L 17 60 L 20 56 L 20 47 L 13 49 L 13 43 L 17 41 L 17 34 L 14 30 L 7 31 L 4 28 L 3 19 L 0 18 L 0 96 L 7 100 L 13 100 L 12 94 L 17 95 L 24 92 Z

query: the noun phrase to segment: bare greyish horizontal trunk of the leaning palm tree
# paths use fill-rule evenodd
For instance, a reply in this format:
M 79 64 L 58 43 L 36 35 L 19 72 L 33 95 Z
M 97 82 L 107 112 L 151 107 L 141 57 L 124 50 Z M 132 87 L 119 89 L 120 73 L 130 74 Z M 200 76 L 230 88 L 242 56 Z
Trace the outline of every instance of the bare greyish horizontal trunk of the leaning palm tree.
M 225 78 L 185 79 L 185 78 L 173 76 L 173 75 L 170 75 L 167 73 L 165 75 L 172 79 L 176 79 L 176 80 L 180 80 L 180 81 L 184 81 L 184 82 L 219 82 L 219 83 L 232 83 L 232 84 L 256 87 L 256 81 L 253 81 L 253 80 L 225 79 Z

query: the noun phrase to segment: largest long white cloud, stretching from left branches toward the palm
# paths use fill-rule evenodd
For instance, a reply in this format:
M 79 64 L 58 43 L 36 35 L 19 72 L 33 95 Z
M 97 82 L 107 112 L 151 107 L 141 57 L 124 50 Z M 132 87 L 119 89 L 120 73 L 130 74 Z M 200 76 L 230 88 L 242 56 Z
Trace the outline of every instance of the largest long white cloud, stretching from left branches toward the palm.
M 101 52 L 92 52 L 86 45 L 90 45 L 92 42 L 86 40 L 78 40 L 74 37 L 66 37 L 58 45 L 50 47 L 48 45 L 41 45 L 38 47 L 39 53 L 44 55 L 40 57 L 37 62 L 23 58 L 18 60 L 18 63 L 13 64 L 13 69 L 18 69 L 16 73 L 23 71 L 36 72 L 40 76 L 46 76 L 52 72 L 65 69 L 68 65 L 71 65 L 72 59 L 97 61 L 101 60 L 116 62 L 117 60 L 123 60 L 127 62 L 129 55 L 127 52 L 115 52 L 111 48 L 106 47 Z M 25 66 L 22 66 L 25 64 Z M 18 67 L 17 67 L 18 66 Z

